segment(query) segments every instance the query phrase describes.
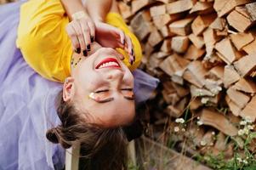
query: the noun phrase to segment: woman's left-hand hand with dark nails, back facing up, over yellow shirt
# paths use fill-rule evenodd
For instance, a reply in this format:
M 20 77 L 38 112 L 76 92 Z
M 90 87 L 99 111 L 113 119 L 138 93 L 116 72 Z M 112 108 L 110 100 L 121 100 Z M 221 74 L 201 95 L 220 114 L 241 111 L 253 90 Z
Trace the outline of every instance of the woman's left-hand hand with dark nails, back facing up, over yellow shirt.
M 88 55 L 91 50 L 91 42 L 94 42 L 94 21 L 83 11 L 71 15 L 72 20 L 66 26 L 66 32 L 71 38 L 72 46 L 77 54 Z

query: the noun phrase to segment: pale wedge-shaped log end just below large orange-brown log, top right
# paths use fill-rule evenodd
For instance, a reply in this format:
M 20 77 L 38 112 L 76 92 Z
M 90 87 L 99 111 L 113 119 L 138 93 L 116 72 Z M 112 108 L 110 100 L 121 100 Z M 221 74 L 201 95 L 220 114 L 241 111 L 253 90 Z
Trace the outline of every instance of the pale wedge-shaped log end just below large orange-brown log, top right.
M 236 49 L 239 51 L 255 39 L 251 33 L 231 34 L 230 37 Z

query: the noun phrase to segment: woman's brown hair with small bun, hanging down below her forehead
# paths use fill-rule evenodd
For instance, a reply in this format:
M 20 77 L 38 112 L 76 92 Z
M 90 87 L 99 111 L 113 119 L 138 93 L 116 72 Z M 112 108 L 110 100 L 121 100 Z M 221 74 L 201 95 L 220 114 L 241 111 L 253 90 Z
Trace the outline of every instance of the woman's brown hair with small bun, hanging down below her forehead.
M 128 139 L 122 127 L 105 128 L 82 121 L 81 112 L 62 98 L 56 99 L 57 113 L 61 125 L 49 129 L 49 141 L 60 143 L 65 149 L 75 141 L 80 142 L 80 156 L 86 162 L 82 169 L 126 170 L 128 161 Z

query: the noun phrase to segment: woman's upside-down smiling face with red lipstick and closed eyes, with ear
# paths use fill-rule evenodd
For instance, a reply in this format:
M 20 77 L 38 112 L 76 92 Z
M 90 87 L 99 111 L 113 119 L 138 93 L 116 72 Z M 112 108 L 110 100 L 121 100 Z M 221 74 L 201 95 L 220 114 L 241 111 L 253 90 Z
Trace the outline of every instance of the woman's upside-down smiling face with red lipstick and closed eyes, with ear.
M 82 59 L 64 84 L 64 99 L 70 95 L 89 122 L 116 127 L 134 119 L 134 77 L 119 58 L 116 50 L 100 48 Z

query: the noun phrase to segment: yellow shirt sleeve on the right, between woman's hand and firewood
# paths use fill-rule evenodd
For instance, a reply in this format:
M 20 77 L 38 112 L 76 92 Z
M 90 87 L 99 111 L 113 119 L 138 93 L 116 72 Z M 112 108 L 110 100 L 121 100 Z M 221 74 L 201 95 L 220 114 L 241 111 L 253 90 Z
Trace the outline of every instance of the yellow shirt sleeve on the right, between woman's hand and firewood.
M 141 57 L 142 57 L 139 40 L 137 39 L 137 37 L 134 35 L 133 32 L 129 31 L 128 26 L 125 24 L 120 14 L 117 14 L 117 13 L 107 14 L 105 22 L 110 24 L 111 26 L 116 26 L 117 28 L 120 28 L 126 35 L 128 35 L 128 37 L 131 38 L 132 43 L 134 45 L 134 53 L 135 53 L 135 62 L 133 65 L 129 64 L 129 61 L 128 61 L 129 56 L 126 51 L 124 51 L 122 48 L 117 48 L 117 51 L 124 56 L 125 58 L 123 60 L 124 64 L 127 65 L 131 71 L 134 71 L 139 66 Z

